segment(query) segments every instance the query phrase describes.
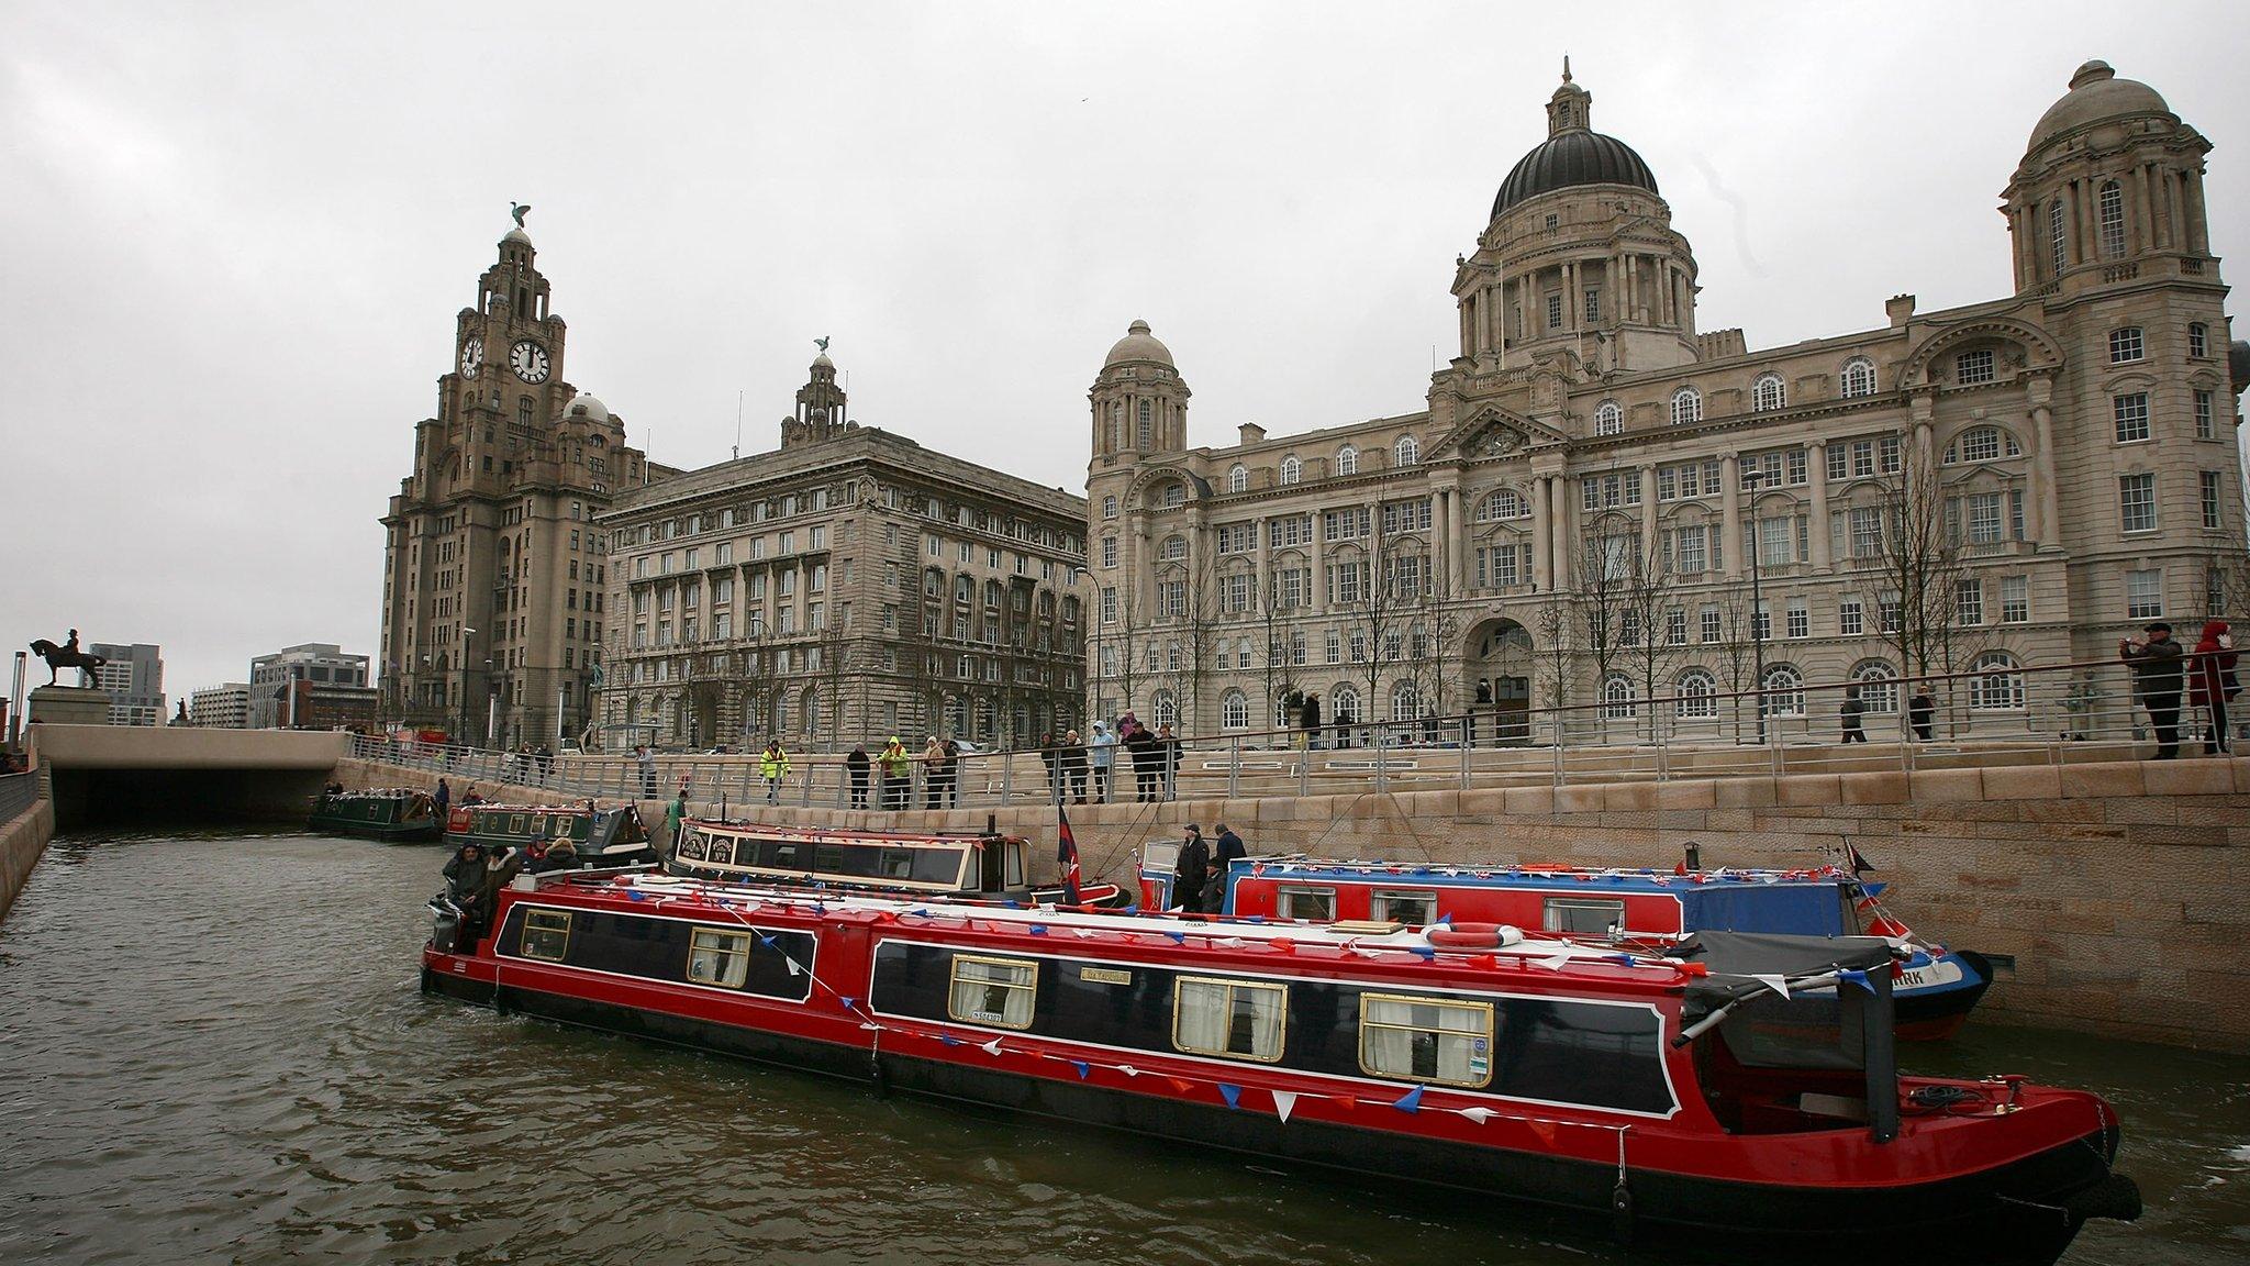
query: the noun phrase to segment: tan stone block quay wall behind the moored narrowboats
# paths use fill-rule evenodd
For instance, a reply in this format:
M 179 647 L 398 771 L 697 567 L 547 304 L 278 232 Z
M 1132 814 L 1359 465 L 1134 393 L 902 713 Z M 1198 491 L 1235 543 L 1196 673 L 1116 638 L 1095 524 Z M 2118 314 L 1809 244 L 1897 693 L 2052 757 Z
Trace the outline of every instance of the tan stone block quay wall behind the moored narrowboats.
M 346 784 L 434 782 L 346 761 Z M 493 797 L 540 802 L 531 786 Z M 641 804 L 662 822 L 662 802 Z M 693 804 L 713 813 L 718 804 Z M 837 811 L 729 802 L 814 827 L 981 829 L 1053 840 L 1048 806 Z M 2007 955 L 1978 1018 L 2250 1050 L 2250 759 L 2099 761 L 1071 806 L 1087 876 L 1132 883 L 1134 849 L 1228 822 L 1253 854 L 1431 863 L 1802 867 L 1845 845 L 1886 906 L 1953 946 Z M 1053 874 L 1053 849 L 1033 849 Z

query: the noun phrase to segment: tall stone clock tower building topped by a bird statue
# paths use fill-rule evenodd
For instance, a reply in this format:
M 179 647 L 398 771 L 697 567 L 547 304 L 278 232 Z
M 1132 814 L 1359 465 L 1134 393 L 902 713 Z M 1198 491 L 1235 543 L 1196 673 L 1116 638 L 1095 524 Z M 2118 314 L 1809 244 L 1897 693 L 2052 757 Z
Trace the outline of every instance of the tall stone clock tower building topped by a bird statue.
M 382 516 L 382 714 L 472 743 L 587 725 L 608 615 L 594 514 L 668 475 L 562 378 L 536 259 L 522 228 L 500 239 Z

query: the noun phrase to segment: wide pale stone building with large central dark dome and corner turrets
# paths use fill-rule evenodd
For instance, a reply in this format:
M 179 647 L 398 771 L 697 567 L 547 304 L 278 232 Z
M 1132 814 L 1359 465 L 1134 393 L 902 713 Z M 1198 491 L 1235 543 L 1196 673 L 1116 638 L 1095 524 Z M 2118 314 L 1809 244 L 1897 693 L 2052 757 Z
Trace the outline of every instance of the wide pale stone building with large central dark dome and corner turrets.
M 1856 678 L 1897 714 L 1901 678 L 1944 671 L 1980 674 L 1937 687 L 1955 730 L 2122 707 L 2115 674 L 2012 669 L 2250 606 L 2207 151 L 2086 63 L 2002 191 L 2012 295 L 1897 295 L 1874 329 L 1750 349 L 1696 327 L 1688 239 L 1566 68 L 1456 261 L 1460 354 L 1422 410 L 1190 446 L 1170 349 L 1143 322 L 1109 349 L 1094 707 L 1264 730 L 1310 692 L 1505 741 L 1564 701 L 1724 737 L 1762 674 L 1775 723 L 1834 737 L 1796 685 Z

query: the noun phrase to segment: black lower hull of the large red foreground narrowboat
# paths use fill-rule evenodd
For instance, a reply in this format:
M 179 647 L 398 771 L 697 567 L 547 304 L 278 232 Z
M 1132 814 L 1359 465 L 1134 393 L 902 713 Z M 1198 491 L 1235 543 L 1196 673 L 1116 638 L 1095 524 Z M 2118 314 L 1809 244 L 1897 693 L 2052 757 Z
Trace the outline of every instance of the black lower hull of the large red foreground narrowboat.
M 846 1016 L 738 1023 L 508 984 L 490 960 L 428 953 L 423 991 L 562 1025 L 603 1029 L 756 1063 L 871 1084 L 884 1093 L 1001 1108 L 1073 1126 L 1192 1142 L 1352 1183 L 1413 1183 L 1559 1210 L 1593 1234 L 1667 1259 L 1883 1264 L 1901 1259 L 2052 1264 L 2088 1216 L 2135 1216 L 2138 1192 L 2113 1176 L 2106 1126 L 1976 1174 L 1892 1187 L 1714 1180 L 1613 1160 L 1510 1147 L 1465 1147 L 1296 1115 L 1233 1111 L 1177 1095 L 1026 1075 L 970 1059 L 866 1045 Z M 974 1047 L 972 1047 L 974 1050 Z M 1150 1079 L 1159 1081 L 1159 1079 Z M 1361 1108 L 1388 1111 L 1388 1108 Z

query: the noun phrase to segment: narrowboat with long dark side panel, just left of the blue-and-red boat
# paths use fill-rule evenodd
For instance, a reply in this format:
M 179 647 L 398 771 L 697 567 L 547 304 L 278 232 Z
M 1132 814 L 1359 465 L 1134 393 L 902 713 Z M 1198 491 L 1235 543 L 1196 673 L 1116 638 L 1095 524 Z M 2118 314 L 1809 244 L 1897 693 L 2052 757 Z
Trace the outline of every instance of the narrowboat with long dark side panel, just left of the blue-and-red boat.
M 666 870 L 684 879 L 1062 903 L 1060 883 L 1033 888 L 1028 847 L 999 831 L 830 831 L 688 818 Z M 1116 883 L 1078 885 L 1080 906 L 1123 906 L 1125 897 Z

